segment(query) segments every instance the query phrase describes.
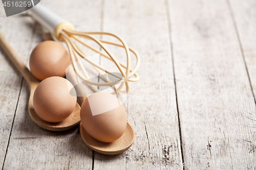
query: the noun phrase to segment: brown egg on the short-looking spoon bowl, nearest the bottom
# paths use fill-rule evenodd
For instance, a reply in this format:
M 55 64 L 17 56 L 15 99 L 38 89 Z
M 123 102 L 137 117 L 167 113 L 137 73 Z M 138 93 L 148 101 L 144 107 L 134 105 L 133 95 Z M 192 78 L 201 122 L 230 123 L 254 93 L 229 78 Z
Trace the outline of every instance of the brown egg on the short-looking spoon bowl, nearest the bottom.
M 81 106 L 80 117 L 83 128 L 102 142 L 117 140 L 126 129 L 125 108 L 110 93 L 97 92 L 89 95 Z

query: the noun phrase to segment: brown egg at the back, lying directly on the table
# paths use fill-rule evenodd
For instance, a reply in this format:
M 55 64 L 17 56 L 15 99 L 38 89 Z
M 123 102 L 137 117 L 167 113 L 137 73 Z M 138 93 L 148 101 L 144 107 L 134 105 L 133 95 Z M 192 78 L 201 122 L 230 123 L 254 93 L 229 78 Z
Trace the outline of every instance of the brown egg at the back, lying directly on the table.
M 66 68 L 70 65 L 69 54 L 58 42 L 44 41 L 32 51 L 29 66 L 32 75 L 38 80 L 48 77 L 66 75 Z

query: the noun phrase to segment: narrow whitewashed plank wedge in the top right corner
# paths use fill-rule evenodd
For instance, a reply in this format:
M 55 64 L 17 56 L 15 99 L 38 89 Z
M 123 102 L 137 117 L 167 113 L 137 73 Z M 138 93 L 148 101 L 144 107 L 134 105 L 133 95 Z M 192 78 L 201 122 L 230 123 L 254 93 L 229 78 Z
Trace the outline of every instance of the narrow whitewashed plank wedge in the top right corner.
M 229 2 L 229 1 L 228 1 Z M 256 96 L 256 1 L 229 2 L 231 14 L 234 15 L 234 24 L 238 29 L 244 58 L 246 61 L 250 81 Z

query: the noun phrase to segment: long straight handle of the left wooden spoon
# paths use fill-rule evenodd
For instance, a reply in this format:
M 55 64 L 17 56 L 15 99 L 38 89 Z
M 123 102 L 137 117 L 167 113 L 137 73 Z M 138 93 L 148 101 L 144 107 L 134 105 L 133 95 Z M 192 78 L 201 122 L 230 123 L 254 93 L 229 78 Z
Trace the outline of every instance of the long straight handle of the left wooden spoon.
M 0 32 L 0 46 L 3 48 L 5 53 L 8 55 L 8 57 L 11 59 L 11 61 L 14 63 L 14 65 L 17 67 L 19 72 L 22 74 L 22 76 L 25 78 L 27 83 L 30 85 L 31 83 L 31 77 L 32 74 L 25 65 L 25 63 L 22 61 L 22 59 L 18 56 L 18 54 L 15 52 L 15 50 L 11 47 L 9 42 L 5 39 L 3 34 Z

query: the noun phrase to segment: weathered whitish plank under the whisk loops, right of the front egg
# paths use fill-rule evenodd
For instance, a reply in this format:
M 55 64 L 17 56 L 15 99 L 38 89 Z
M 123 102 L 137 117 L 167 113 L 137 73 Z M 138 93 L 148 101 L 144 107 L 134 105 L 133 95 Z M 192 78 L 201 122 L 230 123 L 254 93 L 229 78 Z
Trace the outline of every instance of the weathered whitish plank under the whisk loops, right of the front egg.
M 105 1 L 103 18 L 103 31 L 120 35 L 140 54 L 141 80 L 131 83 L 125 103 L 128 122 L 136 132 L 134 144 L 115 156 L 95 153 L 94 169 L 182 169 L 165 2 Z M 125 61 L 122 49 L 109 48 Z

